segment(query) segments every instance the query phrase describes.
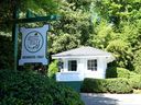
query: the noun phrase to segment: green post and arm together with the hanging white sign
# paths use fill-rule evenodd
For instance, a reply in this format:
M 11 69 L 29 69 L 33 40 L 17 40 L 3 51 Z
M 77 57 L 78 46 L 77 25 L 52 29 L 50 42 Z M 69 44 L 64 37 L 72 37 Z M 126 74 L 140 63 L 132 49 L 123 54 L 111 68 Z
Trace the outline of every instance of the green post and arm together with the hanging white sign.
M 13 20 L 10 20 L 11 22 L 13 22 L 13 31 L 12 31 L 12 37 L 13 37 L 13 40 L 14 40 L 14 71 L 17 71 L 18 69 L 18 35 L 19 35 L 19 23 L 33 23 L 33 22 L 43 22 L 43 21 L 55 21 L 57 19 L 59 19 L 58 15 L 47 15 L 47 16 L 37 16 L 37 18 L 28 18 L 28 19 L 18 19 L 18 10 L 15 9 L 14 13 L 13 13 Z M 48 25 L 46 27 L 48 30 Z M 42 30 L 44 31 L 44 30 Z M 24 34 L 24 36 L 26 36 L 26 38 L 24 37 L 24 43 L 28 43 L 28 44 L 24 44 L 24 46 L 22 46 L 22 48 L 24 48 L 24 50 L 26 51 L 22 51 L 22 57 L 19 61 L 19 65 L 23 65 L 25 62 L 42 62 L 43 65 L 44 63 L 47 63 L 47 59 L 45 58 L 45 55 L 42 55 L 41 50 L 43 50 L 45 48 L 45 45 L 42 46 L 42 43 L 46 40 L 45 37 L 46 37 L 46 33 L 45 33 L 45 36 L 41 34 L 41 32 L 29 32 L 29 33 L 24 33 L 22 31 L 22 33 Z M 34 36 L 36 35 L 36 36 Z M 39 39 L 37 42 L 42 42 L 40 43 L 41 45 L 37 45 L 37 47 L 34 46 L 32 39 L 30 39 L 30 37 L 33 37 L 33 42 L 35 42 L 36 39 Z M 37 38 L 39 37 L 39 38 Z M 44 39 L 43 39 L 44 38 Z M 31 43 L 31 44 L 30 44 Z M 35 48 L 33 48 L 33 46 Z M 31 54 L 35 54 L 35 58 L 34 59 L 29 59 L 28 57 L 28 54 L 29 52 L 29 57 L 31 57 Z M 39 55 L 40 54 L 40 55 Z M 46 54 L 46 52 L 44 52 Z M 37 56 L 39 55 L 39 56 Z M 41 60 L 42 58 L 42 60 Z M 29 59 L 29 61 L 28 61 Z M 44 59 L 44 61 L 43 61 Z M 46 62 L 45 62 L 46 61 Z

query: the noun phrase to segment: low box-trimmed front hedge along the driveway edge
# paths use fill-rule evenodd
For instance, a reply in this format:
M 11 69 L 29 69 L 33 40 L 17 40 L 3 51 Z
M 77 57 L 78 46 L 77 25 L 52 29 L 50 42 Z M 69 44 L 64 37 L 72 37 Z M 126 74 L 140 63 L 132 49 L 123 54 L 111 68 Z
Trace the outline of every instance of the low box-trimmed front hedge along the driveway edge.
M 128 79 L 85 79 L 82 92 L 90 93 L 131 93 Z

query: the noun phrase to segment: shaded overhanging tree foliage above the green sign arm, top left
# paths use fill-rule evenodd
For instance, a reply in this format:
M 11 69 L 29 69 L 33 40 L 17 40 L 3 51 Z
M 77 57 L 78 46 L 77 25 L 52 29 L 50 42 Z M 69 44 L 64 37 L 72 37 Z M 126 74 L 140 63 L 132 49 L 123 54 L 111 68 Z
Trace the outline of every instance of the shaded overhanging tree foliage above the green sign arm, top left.
M 37 15 L 56 13 L 57 0 L 1 0 L 0 1 L 0 31 L 11 31 L 11 21 L 15 9 L 25 18 L 26 11 L 32 11 Z

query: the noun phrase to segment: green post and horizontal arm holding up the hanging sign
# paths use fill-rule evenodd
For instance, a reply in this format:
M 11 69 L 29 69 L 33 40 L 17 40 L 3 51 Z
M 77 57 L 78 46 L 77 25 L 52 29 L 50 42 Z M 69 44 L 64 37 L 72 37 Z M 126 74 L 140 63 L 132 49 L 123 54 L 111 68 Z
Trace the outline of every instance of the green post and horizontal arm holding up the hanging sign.
M 28 13 L 28 12 L 26 12 Z M 26 14 L 29 15 L 29 14 Z M 18 70 L 18 35 L 19 35 L 19 23 L 33 23 L 33 22 L 45 22 L 45 21 L 55 21 L 58 20 L 61 16 L 58 15 L 47 15 L 47 16 L 36 16 L 36 18 L 26 18 L 26 19 L 19 19 L 19 11 L 15 8 L 13 12 L 13 20 L 9 20 L 13 23 L 12 28 L 12 39 L 14 42 L 14 71 Z

